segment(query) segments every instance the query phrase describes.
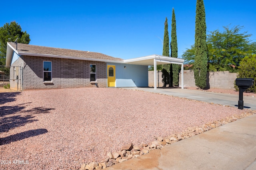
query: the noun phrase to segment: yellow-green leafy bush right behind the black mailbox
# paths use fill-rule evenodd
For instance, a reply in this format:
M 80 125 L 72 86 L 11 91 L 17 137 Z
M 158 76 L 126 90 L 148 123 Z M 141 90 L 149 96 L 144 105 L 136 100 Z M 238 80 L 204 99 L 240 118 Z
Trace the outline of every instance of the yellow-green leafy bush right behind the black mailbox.
M 240 66 L 238 66 L 238 76 L 237 78 L 254 78 L 254 85 L 248 90 L 247 92 L 254 92 L 256 93 L 256 55 L 249 55 L 244 57 L 241 62 Z M 235 85 L 235 83 L 234 83 Z M 237 86 L 235 85 L 235 88 Z

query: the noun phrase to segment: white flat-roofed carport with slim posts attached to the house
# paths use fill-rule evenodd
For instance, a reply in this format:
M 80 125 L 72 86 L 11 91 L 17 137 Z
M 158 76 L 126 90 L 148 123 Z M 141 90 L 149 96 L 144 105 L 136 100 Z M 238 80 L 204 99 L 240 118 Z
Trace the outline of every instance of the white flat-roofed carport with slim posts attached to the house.
M 156 65 L 160 64 L 180 64 L 181 65 L 181 88 L 183 89 L 183 66 L 184 59 L 178 59 L 174 57 L 166 57 L 161 55 L 149 55 L 146 57 L 139 57 L 135 59 L 124 60 L 124 63 L 127 64 L 138 64 L 138 65 L 147 65 L 154 66 L 154 89 L 156 89 Z

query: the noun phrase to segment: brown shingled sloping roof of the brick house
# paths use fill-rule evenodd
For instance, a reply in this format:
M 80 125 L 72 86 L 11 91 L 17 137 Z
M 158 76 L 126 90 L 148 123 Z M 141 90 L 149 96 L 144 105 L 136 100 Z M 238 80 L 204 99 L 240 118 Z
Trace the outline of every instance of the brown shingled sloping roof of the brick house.
M 14 49 L 16 49 L 16 44 L 8 42 Z M 77 57 L 81 59 L 99 59 L 99 60 L 109 60 L 109 61 L 123 61 L 123 59 L 111 57 L 109 55 L 104 55 L 102 53 L 90 52 L 90 51 L 79 51 L 70 49 L 60 49 L 53 47 L 43 47 L 37 45 L 29 45 L 18 43 L 18 53 L 28 53 L 30 56 L 32 54 L 40 55 L 55 55 L 60 57 Z

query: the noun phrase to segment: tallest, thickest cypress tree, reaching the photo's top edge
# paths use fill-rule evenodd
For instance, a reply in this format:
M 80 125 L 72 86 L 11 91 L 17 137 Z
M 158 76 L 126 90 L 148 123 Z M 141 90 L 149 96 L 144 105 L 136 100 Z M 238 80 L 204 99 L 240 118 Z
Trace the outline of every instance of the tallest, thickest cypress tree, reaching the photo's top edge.
M 204 0 L 196 1 L 194 77 L 198 88 L 206 87 L 207 46 Z

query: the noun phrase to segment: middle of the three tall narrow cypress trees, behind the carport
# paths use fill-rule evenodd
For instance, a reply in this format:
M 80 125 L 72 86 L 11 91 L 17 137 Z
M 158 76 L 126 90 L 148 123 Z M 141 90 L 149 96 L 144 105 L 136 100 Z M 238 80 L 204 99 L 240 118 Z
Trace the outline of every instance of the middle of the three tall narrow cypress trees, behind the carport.
M 172 8 L 172 32 L 171 32 L 171 57 L 178 57 L 178 44 L 177 44 L 177 34 L 176 34 L 176 19 L 174 8 Z M 179 66 L 178 64 L 172 64 L 172 85 L 179 86 Z

